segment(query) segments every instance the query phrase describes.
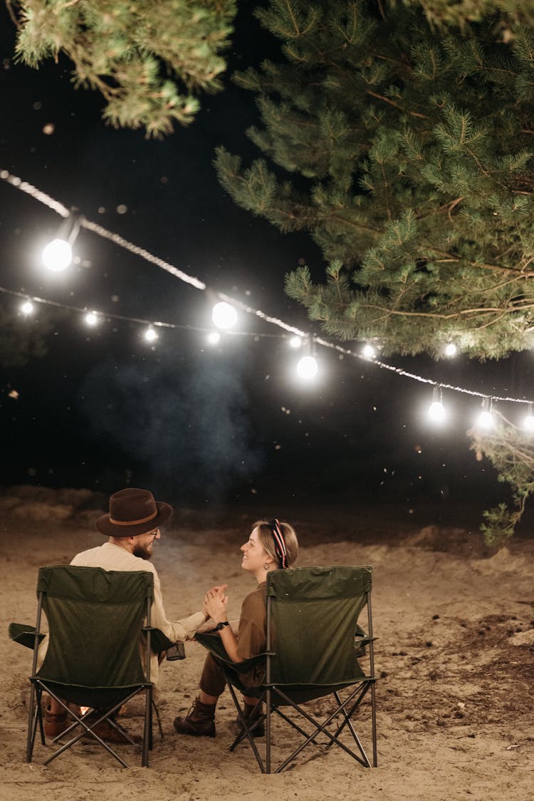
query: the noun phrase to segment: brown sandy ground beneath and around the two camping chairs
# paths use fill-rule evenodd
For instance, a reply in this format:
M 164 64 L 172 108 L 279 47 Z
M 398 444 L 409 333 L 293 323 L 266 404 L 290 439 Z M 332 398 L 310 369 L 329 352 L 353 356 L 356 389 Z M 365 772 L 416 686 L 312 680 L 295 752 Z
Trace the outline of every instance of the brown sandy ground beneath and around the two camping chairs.
M 299 565 L 363 565 L 374 570 L 373 614 L 379 767 L 365 769 L 339 749 L 308 750 L 282 775 L 261 775 L 247 744 L 228 752 L 235 711 L 225 693 L 215 739 L 176 735 L 172 720 L 195 698 L 204 651 L 164 662 L 159 706 L 164 739 L 155 736 L 151 767 L 122 747 L 129 769 L 91 745 L 78 744 L 49 767 L 48 746 L 24 762 L 30 650 L 7 638 L 10 621 L 34 622 L 39 566 L 70 561 L 98 545 L 91 529 L 98 499 L 85 491 L 4 492 L 2 571 L 2 706 L 0 799 L 132 801 L 132 799 L 383 799 L 515 801 L 534 793 L 534 541 L 517 537 L 488 552 L 477 533 L 458 527 L 395 521 L 391 510 L 352 509 L 340 521 L 322 509 L 293 516 Z M 93 508 L 91 508 L 93 507 Z M 96 508 L 95 508 L 96 507 Z M 102 508 L 102 507 L 101 507 Z M 104 509 L 105 510 L 105 509 Z M 309 513 L 310 510 L 308 509 Z M 227 582 L 230 612 L 254 586 L 240 570 L 239 544 L 255 519 L 176 516 L 155 552 L 167 616 L 199 609 L 203 591 Z M 342 532 L 342 533 L 340 533 Z M 139 730 L 138 710 L 124 725 Z M 358 717 L 371 752 L 368 708 Z M 275 732 L 275 744 L 285 735 Z M 262 741 L 258 741 L 261 743 Z

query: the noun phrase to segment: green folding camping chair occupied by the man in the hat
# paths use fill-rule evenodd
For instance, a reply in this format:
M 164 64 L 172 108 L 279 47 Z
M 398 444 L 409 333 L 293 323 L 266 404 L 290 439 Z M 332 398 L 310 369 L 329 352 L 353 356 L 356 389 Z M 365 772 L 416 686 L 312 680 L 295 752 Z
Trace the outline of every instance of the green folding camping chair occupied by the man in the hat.
M 93 730 L 102 721 L 107 721 L 124 735 L 124 730 L 114 721 L 114 713 L 122 704 L 144 692 L 142 765 L 148 766 L 148 751 L 152 747 L 150 655 L 153 585 L 152 574 L 147 571 L 127 573 L 72 566 L 42 567 L 39 570 L 34 629 L 30 632 L 27 626 L 10 626 L 11 638 L 34 648 L 26 762 L 32 759 L 37 728 L 42 744 L 46 744 L 42 724 L 42 693 L 46 692 L 61 704 L 72 723 L 53 741 L 57 744 L 67 739 L 67 742 L 60 745 L 44 764 L 88 735 L 123 767 L 128 767 L 122 756 Z M 48 622 L 49 641 L 45 658 L 38 668 L 43 612 Z M 145 634 L 144 670 L 140 632 Z M 168 643 L 167 638 L 164 639 Z M 73 710 L 73 704 L 86 707 L 85 713 Z

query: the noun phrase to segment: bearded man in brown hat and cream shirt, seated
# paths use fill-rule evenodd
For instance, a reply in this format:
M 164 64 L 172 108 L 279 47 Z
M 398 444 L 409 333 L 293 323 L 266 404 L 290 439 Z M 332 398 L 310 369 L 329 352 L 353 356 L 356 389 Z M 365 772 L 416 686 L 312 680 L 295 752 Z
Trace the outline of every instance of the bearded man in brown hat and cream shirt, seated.
M 159 576 L 149 562 L 154 541 L 161 534 L 159 526 L 166 523 L 172 514 L 167 503 L 155 501 L 147 489 L 121 489 L 110 497 L 109 513 L 98 517 L 96 529 L 106 534 L 107 542 L 96 548 L 77 553 L 71 565 L 78 567 L 102 567 L 104 570 L 136 571 L 147 570 L 154 576 L 154 601 L 151 607 L 151 626 L 159 629 L 171 642 L 191 640 L 199 626 L 203 626 L 208 616 L 195 612 L 188 618 L 171 622 L 163 608 L 163 598 Z M 47 646 L 46 638 L 39 648 L 39 662 L 42 662 Z M 157 682 L 159 659 L 153 654 L 151 659 L 151 681 Z M 50 698 L 50 707 L 45 710 L 45 734 L 56 737 L 69 725 L 66 711 Z M 96 729 L 95 729 L 96 731 Z M 97 731 L 102 739 L 123 742 L 120 735 L 109 724 L 100 724 Z M 127 741 L 126 741 L 127 742 Z

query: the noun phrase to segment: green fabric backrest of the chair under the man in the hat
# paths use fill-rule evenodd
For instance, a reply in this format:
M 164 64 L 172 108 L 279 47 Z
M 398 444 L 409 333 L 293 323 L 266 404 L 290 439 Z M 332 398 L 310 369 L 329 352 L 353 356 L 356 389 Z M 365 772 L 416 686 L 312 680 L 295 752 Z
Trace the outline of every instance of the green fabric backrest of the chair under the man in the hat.
M 49 643 L 36 675 L 71 688 L 126 688 L 146 682 L 139 632 L 150 609 L 153 577 L 98 567 L 42 567 L 37 593 Z M 73 693 L 69 693 L 72 697 Z

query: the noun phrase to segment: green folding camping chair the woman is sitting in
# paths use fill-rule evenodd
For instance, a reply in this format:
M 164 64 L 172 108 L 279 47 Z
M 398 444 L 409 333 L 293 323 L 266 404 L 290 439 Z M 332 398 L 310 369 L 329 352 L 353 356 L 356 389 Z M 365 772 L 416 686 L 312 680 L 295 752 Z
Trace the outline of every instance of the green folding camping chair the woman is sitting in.
M 197 634 L 197 640 L 219 662 L 238 711 L 242 731 L 230 750 L 246 737 L 263 773 L 283 771 L 311 745 L 326 750 L 336 745 L 363 767 L 371 767 L 352 721 L 356 710 L 367 710 L 363 699 L 369 690 L 372 765 L 376 767 L 371 578 L 371 567 L 299 567 L 267 574 L 267 651 L 245 662 L 229 662 L 217 634 Z M 366 606 L 367 634 L 362 636 L 358 618 Z M 359 665 L 363 654 L 365 672 Z M 265 678 L 259 686 L 247 687 L 243 674 L 253 667 L 263 667 Z M 265 712 L 253 723 L 247 724 L 235 690 L 265 702 Z M 317 699 L 325 697 L 331 708 L 326 715 L 323 710 L 319 720 L 314 706 L 323 707 L 324 702 L 317 704 Z M 298 732 L 303 741 L 271 771 L 271 723 L 275 718 Z M 254 739 L 254 729 L 263 720 L 264 760 Z

